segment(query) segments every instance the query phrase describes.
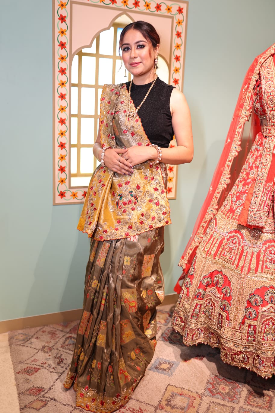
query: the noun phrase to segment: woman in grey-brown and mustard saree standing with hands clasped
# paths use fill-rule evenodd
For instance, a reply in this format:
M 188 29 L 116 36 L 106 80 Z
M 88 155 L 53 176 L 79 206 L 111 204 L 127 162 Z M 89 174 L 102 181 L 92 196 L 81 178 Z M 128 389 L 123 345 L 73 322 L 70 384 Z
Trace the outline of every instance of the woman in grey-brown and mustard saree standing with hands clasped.
M 78 229 L 92 237 L 83 314 L 66 388 L 76 404 L 112 412 L 127 403 L 156 345 L 164 298 L 159 257 L 170 223 L 166 163 L 190 162 L 190 112 L 179 90 L 155 74 L 160 38 L 137 21 L 120 36 L 131 82 L 104 85 L 89 184 Z M 138 112 L 138 114 L 137 114 Z M 169 148 L 175 134 L 177 147 Z

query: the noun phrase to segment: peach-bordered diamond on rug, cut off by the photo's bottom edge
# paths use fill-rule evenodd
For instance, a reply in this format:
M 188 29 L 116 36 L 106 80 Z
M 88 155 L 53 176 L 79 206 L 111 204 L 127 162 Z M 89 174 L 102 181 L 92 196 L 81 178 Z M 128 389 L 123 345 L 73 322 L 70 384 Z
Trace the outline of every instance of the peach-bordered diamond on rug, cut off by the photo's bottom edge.
M 167 385 L 158 408 L 171 413 L 195 413 L 200 404 L 200 394 Z

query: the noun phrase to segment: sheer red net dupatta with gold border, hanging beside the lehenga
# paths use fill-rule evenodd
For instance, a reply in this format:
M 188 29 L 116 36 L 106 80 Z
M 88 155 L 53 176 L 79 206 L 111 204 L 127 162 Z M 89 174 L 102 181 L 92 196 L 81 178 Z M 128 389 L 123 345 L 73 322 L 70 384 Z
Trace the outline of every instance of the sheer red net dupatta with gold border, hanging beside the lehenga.
M 233 170 L 236 165 L 243 164 L 244 157 L 247 153 L 247 148 L 245 145 L 242 145 L 242 137 L 244 124 L 250 119 L 253 109 L 255 99 L 254 87 L 259 80 L 259 70 L 261 65 L 274 53 L 275 44 L 254 59 L 254 62 L 249 67 L 244 78 L 233 119 L 230 124 L 225 145 L 223 147 L 223 152 L 219 159 L 219 163 L 216 166 L 207 197 L 200 210 L 193 233 L 185 251 L 183 252 L 181 260 L 179 261 L 179 266 L 183 268 L 183 274 L 174 288 L 174 291 L 177 293 L 181 292 L 181 281 L 184 279 L 190 268 L 196 254 L 197 247 L 199 246 L 210 221 L 216 215 L 228 192 L 233 187 L 235 182 L 235 179 L 233 179 Z M 259 122 L 256 123 L 253 119 L 252 128 L 253 135 L 255 137 L 256 133 L 261 130 Z

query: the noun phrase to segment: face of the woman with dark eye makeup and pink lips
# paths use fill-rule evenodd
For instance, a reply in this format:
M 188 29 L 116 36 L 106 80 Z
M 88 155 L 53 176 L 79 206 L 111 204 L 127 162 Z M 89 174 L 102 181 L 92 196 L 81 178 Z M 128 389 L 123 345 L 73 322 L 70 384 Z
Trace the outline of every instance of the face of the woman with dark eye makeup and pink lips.
M 122 60 L 126 69 L 139 78 L 142 83 L 153 81 L 155 57 L 159 51 L 159 45 L 153 49 L 151 43 L 143 37 L 140 31 L 130 29 L 126 32 L 121 45 Z

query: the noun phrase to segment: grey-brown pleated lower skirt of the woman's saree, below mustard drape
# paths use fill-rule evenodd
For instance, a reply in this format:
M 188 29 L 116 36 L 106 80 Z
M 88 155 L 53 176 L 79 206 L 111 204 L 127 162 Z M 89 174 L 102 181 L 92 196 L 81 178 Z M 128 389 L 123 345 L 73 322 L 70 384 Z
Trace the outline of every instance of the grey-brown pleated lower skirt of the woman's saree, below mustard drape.
M 64 386 L 76 405 L 112 412 L 127 403 L 153 358 L 164 298 L 164 227 L 120 240 L 92 239 L 75 350 Z

